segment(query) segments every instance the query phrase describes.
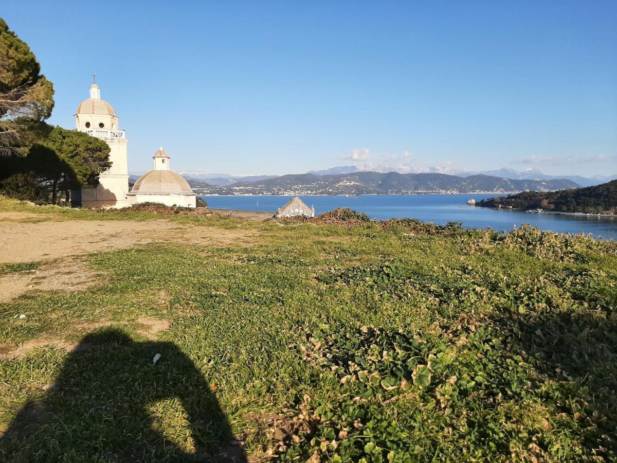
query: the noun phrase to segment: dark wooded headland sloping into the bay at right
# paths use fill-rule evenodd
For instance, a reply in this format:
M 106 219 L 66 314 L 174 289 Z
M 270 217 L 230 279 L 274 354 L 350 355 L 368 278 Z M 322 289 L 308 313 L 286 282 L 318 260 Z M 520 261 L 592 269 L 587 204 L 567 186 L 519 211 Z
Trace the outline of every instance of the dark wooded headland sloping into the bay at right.
M 602 185 L 571 190 L 526 191 L 479 201 L 481 207 L 511 207 L 512 209 L 544 209 L 553 212 L 584 214 L 617 214 L 617 180 Z

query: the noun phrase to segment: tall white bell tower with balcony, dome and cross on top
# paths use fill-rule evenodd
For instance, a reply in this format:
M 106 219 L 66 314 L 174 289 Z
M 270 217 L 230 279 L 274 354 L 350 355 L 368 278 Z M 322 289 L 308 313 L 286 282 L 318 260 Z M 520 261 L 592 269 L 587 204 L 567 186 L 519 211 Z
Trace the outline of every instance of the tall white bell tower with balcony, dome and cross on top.
M 124 130 L 118 130 L 118 116 L 114 108 L 101 99 L 96 83 L 90 86 L 90 98 L 81 102 L 75 114 L 77 130 L 96 136 L 109 144 L 112 165 L 99 175 L 96 188 L 72 191 L 71 204 L 75 207 L 126 207 L 128 201 L 128 139 Z

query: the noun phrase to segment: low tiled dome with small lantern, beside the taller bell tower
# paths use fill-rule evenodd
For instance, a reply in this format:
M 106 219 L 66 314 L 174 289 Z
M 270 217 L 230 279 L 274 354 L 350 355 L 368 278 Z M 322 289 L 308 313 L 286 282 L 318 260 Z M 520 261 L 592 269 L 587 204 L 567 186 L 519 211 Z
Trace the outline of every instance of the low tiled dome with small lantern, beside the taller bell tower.
M 145 173 L 128 193 L 128 203 L 160 202 L 167 206 L 196 207 L 197 194 L 188 181 L 170 170 L 170 157 L 161 147 L 152 156 L 154 170 Z

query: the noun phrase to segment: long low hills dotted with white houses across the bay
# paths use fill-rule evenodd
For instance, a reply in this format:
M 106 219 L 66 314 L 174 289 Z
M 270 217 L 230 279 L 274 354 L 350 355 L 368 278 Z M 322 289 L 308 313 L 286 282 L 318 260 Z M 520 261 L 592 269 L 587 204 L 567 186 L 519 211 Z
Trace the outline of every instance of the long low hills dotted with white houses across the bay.
M 231 194 L 396 194 L 507 193 L 576 188 L 570 180 L 513 180 L 489 175 L 457 177 L 444 173 L 354 172 L 340 175 L 283 175 L 229 185 Z

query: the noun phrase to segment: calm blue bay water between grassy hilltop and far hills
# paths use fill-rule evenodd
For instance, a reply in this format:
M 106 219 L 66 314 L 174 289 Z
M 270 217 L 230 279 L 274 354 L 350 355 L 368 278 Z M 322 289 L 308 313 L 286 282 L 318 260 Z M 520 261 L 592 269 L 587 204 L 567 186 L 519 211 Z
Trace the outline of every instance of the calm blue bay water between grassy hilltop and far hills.
M 521 223 L 537 225 L 542 230 L 560 233 L 592 233 L 605 240 L 617 240 L 617 220 L 608 217 L 573 217 L 566 215 L 529 214 L 521 211 L 497 211 L 486 207 L 467 206 L 470 198 L 491 198 L 494 194 L 392 194 L 379 196 L 300 196 L 309 206 L 315 206 L 315 215 L 336 207 L 349 207 L 364 212 L 373 219 L 410 217 L 423 222 L 445 225 L 463 222 L 466 228 L 510 230 Z M 291 196 L 204 196 L 215 209 L 242 209 L 245 211 L 276 211 Z M 259 205 L 257 204 L 259 202 Z

